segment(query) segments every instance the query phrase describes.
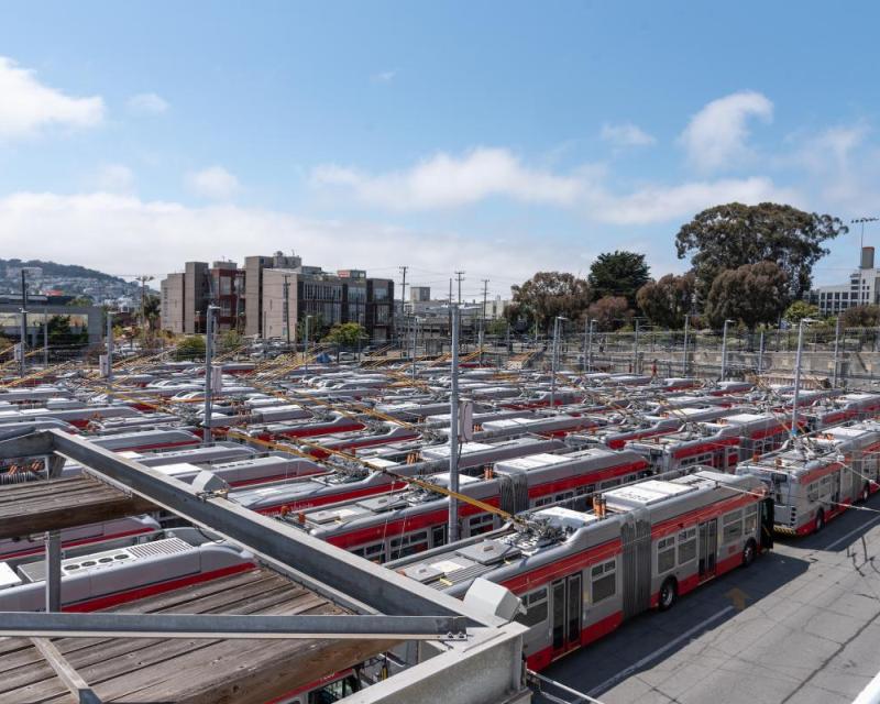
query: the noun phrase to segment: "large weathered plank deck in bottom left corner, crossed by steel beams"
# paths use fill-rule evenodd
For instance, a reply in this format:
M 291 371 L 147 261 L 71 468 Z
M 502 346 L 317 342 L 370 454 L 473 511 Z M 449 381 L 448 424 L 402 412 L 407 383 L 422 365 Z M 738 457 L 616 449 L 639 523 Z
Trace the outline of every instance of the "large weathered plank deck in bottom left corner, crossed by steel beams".
M 268 570 L 255 569 L 116 607 L 122 613 L 344 614 Z M 57 638 L 101 702 L 264 704 L 396 645 L 374 640 Z M 0 639 L 0 703 L 75 704 L 28 638 Z

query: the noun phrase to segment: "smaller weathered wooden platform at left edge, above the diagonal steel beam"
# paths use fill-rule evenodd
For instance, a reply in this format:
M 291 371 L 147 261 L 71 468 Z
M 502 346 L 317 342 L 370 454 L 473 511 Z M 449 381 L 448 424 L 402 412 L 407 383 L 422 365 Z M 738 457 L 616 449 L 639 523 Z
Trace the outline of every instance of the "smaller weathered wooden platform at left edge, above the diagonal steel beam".
M 155 510 L 148 502 L 82 475 L 0 486 L 0 539 Z

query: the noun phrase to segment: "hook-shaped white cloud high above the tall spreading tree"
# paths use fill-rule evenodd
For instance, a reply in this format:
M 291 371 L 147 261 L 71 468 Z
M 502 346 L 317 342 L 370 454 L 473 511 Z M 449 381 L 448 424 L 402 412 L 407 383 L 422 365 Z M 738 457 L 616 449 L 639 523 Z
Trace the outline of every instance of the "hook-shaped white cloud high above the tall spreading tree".
M 748 154 L 750 118 L 770 122 L 773 103 L 759 92 L 743 91 L 706 105 L 680 138 L 691 164 L 710 172 L 740 163 Z

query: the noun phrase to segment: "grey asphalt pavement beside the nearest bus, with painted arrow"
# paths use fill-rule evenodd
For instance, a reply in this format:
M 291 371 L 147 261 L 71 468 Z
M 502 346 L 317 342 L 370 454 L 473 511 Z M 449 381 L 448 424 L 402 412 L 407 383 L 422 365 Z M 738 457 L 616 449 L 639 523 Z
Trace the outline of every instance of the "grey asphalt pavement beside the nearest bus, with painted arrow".
M 880 671 L 880 495 L 543 674 L 603 704 L 838 704 Z M 572 694 L 548 690 L 570 702 Z M 536 697 L 536 702 L 550 700 Z

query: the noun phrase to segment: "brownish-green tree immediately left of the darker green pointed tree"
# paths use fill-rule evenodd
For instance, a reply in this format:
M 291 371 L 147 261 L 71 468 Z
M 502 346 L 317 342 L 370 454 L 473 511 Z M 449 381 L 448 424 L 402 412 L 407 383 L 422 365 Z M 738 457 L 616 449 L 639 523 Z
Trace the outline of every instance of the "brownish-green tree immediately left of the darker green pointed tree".
M 590 306 L 590 286 L 583 278 L 562 272 L 538 272 L 521 286 L 512 286 L 513 300 L 504 310 L 512 324 L 536 324 L 549 333 L 553 318 L 583 318 Z

